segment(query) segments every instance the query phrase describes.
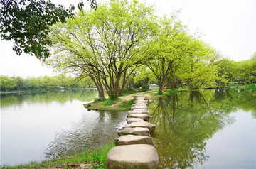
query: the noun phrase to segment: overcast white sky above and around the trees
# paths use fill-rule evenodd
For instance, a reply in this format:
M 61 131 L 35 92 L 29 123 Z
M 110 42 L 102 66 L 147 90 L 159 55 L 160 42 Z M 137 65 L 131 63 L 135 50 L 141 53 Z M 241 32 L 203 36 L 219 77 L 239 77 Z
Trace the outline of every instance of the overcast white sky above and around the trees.
M 68 0 L 52 0 L 69 6 Z M 77 4 L 80 0 L 72 1 Z M 141 0 L 143 1 L 143 0 Z M 84 0 L 85 5 L 87 1 Z M 256 1 L 255 0 L 148 0 L 157 13 L 169 14 L 182 9 L 183 23 L 191 31 L 199 29 L 201 39 L 232 60 L 247 60 L 256 52 Z M 48 67 L 31 55 L 18 56 L 11 49 L 13 43 L 0 41 L 0 75 L 40 76 L 55 75 Z

